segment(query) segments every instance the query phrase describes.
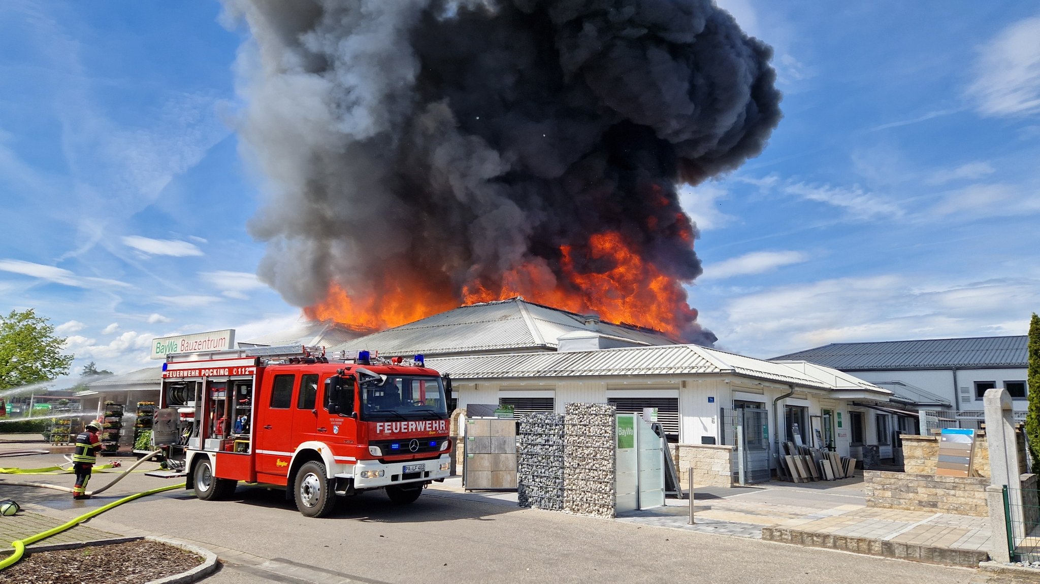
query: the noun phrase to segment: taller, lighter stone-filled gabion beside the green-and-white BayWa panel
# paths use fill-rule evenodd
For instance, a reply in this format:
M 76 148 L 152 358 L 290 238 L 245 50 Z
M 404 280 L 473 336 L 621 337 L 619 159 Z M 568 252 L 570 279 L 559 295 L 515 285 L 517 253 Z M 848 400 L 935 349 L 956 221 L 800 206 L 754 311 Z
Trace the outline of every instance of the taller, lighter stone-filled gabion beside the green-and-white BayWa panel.
M 615 415 L 605 403 L 568 403 L 564 418 L 564 510 L 614 516 Z

